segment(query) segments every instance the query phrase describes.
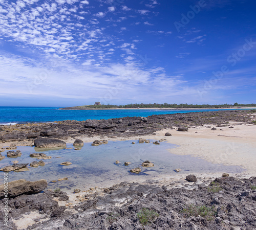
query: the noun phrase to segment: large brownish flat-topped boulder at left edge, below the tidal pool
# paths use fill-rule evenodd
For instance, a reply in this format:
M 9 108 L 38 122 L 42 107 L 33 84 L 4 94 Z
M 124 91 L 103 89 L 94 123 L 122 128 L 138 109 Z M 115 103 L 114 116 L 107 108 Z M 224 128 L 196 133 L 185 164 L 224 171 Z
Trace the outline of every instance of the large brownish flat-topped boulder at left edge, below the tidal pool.
M 14 180 L 8 183 L 8 198 L 23 194 L 36 194 L 47 187 L 47 181 L 44 179 L 37 181 L 27 181 L 25 179 Z M 5 198 L 4 185 L 0 186 L 0 199 Z

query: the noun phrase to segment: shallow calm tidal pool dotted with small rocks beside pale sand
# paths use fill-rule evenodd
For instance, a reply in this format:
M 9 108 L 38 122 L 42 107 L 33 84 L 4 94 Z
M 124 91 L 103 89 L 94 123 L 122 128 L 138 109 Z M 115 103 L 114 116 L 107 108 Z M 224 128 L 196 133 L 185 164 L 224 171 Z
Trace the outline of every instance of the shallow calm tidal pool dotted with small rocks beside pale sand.
M 22 152 L 22 156 L 9 158 L 6 156 L 8 151 L 2 152 L 6 156 L 0 161 L 0 167 L 10 165 L 13 160 L 19 163 L 31 163 L 36 158 L 29 156 L 31 153 L 43 152 L 52 156 L 51 159 L 44 160 L 45 166 L 36 168 L 28 165 L 28 171 L 9 172 L 9 181 L 17 179 L 26 179 L 30 181 L 46 179 L 48 189 L 60 188 L 62 191 L 72 192 L 74 188 L 86 190 L 94 186 L 108 186 L 113 183 L 122 181 L 131 181 L 136 179 L 154 179 L 165 175 L 177 175 L 174 171 L 176 168 L 182 169 L 179 174 L 190 173 L 241 173 L 244 171 L 239 166 L 224 166 L 220 164 L 211 164 L 206 160 L 193 157 L 191 155 L 181 156 L 170 153 L 167 149 L 177 147 L 173 144 L 161 142 L 160 145 L 154 145 L 153 140 L 150 144 L 132 145 L 133 141 L 109 141 L 106 145 L 91 146 L 91 143 L 84 143 L 81 150 L 58 149 L 44 150 L 28 146 L 17 147 Z M 67 144 L 67 147 L 73 147 Z M 60 157 L 60 158 L 59 158 Z M 116 165 L 115 161 L 119 160 L 120 164 Z M 154 163 L 152 168 L 141 167 L 145 160 Z M 38 162 L 39 160 L 37 160 Z M 62 162 L 71 162 L 70 166 L 61 166 Z M 131 162 L 129 166 L 124 166 L 124 162 Z M 133 168 L 140 167 L 140 174 L 131 173 Z M 4 175 L 4 172 L 0 172 Z M 57 181 L 59 178 L 68 177 L 68 180 Z M 0 178 L 3 183 L 4 176 Z

